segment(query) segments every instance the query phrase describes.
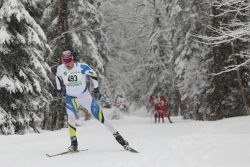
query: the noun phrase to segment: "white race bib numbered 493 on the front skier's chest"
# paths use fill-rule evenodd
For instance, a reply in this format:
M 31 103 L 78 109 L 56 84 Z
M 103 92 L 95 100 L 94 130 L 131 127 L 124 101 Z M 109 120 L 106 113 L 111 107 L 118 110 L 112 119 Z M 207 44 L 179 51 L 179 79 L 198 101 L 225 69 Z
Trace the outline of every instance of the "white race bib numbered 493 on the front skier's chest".
M 69 87 L 77 87 L 83 84 L 81 70 L 63 71 L 62 78 L 63 83 Z

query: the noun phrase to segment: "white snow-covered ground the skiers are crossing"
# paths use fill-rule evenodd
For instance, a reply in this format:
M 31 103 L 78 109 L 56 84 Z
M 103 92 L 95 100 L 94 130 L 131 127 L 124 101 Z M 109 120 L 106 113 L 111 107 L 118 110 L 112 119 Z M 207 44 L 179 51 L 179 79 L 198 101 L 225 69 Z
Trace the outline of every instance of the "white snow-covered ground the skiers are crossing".
M 107 110 L 104 109 L 108 112 Z M 111 120 L 130 146 L 124 151 L 97 120 L 77 127 L 79 149 L 86 152 L 46 157 L 67 150 L 68 130 L 0 136 L 0 167 L 247 167 L 250 166 L 250 117 L 215 122 L 171 117 L 154 124 L 141 109 Z

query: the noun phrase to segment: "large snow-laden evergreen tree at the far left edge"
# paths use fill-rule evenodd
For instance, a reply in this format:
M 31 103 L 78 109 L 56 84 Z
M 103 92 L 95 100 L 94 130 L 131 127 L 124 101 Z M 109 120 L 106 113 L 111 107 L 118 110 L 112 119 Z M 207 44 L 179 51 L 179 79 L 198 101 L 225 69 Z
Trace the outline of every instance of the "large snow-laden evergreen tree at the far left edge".
M 51 99 L 50 47 L 23 3 L 0 1 L 0 134 L 39 132 Z

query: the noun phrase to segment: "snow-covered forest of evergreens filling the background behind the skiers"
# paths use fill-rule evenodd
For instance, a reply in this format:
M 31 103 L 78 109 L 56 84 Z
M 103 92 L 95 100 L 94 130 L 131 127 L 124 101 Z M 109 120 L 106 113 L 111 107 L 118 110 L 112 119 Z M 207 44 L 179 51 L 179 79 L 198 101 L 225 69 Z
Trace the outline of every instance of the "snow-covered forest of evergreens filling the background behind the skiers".
M 66 126 L 65 50 L 98 73 L 102 107 L 149 112 L 160 92 L 172 117 L 247 116 L 249 16 L 249 0 L 0 0 L 0 134 Z

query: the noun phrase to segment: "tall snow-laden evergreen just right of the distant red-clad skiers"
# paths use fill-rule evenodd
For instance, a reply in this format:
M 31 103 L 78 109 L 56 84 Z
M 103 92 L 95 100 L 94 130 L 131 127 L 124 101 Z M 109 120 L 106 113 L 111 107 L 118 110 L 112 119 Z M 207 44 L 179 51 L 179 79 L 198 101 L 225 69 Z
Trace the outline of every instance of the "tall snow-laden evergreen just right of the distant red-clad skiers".
M 206 105 L 206 94 L 204 94 L 210 81 L 207 73 L 207 58 L 210 49 L 207 45 L 196 41 L 193 36 L 204 34 L 206 31 L 200 22 L 208 20 L 202 13 L 208 11 L 206 1 L 188 0 L 177 3 L 169 3 L 168 15 L 170 24 L 168 24 L 168 36 L 172 45 L 172 62 L 176 77 L 174 82 L 176 99 L 180 93 L 180 101 L 175 107 L 175 114 L 178 114 L 180 108 L 181 114 L 185 118 L 196 119 L 201 106 Z M 189 105 L 189 111 L 185 110 Z M 186 113 L 184 113 L 186 112 Z

